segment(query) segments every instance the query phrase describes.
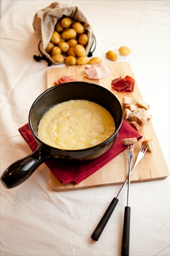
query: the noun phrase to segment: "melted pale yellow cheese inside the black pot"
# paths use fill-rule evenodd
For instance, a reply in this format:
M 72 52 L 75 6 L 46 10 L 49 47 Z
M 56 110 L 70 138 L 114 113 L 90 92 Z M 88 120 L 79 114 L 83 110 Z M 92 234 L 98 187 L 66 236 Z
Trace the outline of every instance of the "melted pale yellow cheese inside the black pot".
M 70 100 L 44 114 L 38 136 L 49 146 L 78 150 L 105 141 L 115 130 L 114 119 L 103 106 L 87 100 Z

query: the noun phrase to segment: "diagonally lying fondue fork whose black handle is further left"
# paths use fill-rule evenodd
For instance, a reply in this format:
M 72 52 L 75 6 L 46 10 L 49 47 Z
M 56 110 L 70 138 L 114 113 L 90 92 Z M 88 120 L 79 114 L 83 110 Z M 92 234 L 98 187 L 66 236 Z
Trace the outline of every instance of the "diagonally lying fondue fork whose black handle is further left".
M 130 171 L 130 175 L 134 171 L 134 168 L 137 166 L 139 161 L 143 158 L 146 151 L 147 151 L 147 147 L 145 145 L 143 145 L 141 150 L 138 153 L 137 160 L 135 161 L 134 166 Z M 107 224 L 109 218 L 111 217 L 111 215 L 113 213 L 114 208 L 116 208 L 116 205 L 118 203 L 118 197 L 120 196 L 120 194 L 121 194 L 122 190 L 124 189 L 127 182 L 128 182 L 128 178 L 125 180 L 125 182 L 122 185 L 122 187 L 121 187 L 120 191 L 118 192 L 117 196 L 113 198 L 113 200 L 109 204 L 107 210 L 105 211 L 103 217 L 101 218 L 99 224 L 96 226 L 96 229 L 94 230 L 94 233 L 92 233 L 92 236 L 91 236 L 92 240 L 97 241 L 99 239 L 101 233 L 103 232 L 103 229 L 105 228 L 105 225 Z

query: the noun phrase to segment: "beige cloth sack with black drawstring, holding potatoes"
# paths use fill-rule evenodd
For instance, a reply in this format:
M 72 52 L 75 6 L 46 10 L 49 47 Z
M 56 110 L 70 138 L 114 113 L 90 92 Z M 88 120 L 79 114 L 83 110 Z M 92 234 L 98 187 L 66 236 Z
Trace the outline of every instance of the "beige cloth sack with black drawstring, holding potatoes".
M 48 43 L 52 38 L 52 34 L 58 19 L 62 18 L 62 16 L 70 16 L 70 18 L 84 23 L 84 28 L 87 30 L 88 35 L 86 53 L 88 57 L 92 56 L 92 52 L 95 50 L 96 40 L 94 32 L 92 31 L 92 28 L 84 14 L 76 6 L 69 7 L 61 2 L 53 2 L 45 9 L 37 11 L 33 18 L 33 28 L 36 35 L 40 38 L 39 51 L 42 55 L 34 55 L 33 57 L 36 61 L 46 60 L 49 66 L 52 65 L 52 63 L 58 64 L 52 60 L 48 53 L 46 53 L 45 48 L 48 46 Z M 94 48 L 93 51 L 91 50 L 92 48 Z

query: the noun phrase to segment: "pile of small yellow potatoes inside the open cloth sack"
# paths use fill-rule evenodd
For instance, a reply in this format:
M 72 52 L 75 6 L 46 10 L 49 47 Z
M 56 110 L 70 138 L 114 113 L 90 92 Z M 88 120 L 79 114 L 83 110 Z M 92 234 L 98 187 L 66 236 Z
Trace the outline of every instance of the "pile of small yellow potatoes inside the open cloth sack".
M 45 51 L 56 63 L 65 61 L 66 65 L 86 65 L 87 44 L 88 35 L 84 25 L 73 18 L 63 17 L 58 20 Z

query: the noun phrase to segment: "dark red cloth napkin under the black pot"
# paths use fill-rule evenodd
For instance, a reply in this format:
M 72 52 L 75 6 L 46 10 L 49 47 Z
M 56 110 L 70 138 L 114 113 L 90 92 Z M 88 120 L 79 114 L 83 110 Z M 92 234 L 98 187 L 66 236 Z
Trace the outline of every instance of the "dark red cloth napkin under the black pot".
M 37 143 L 32 136 L 28 123 L 19 128 L 19 132 L 28 143 L 32 151 L 37 147 Z M 139 141 L 142 135 L 139 134 L 128 122 L 123 121 L 117 141 L 111 148 L 99 158 L 92 160 L 77 160 L 69 161 L 66 159 L 51 159 L 46 162 L 46 166 L 53 172 L 53 175 L 62 183 L 75 182 L 78 184 L 80 181 L 86 179 L 91 174 L 94 174 L 97 170 L 115 158 L 118 154 L 124 151 L 127 146 L 124 146 L 121 139 L 125 138 L 137 138 Z

